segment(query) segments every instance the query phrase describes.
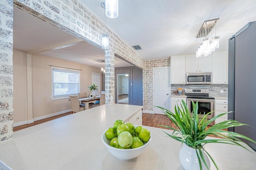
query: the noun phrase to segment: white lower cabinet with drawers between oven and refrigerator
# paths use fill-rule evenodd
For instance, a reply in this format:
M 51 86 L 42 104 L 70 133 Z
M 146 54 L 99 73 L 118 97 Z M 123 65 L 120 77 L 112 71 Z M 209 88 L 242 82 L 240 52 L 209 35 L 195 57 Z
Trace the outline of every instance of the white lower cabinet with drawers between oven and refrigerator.
M 228 111 L 228 100 L 224 99 L 215 99 L 215 115 L 220 115 Z M 215 120 L 215 123 L 220 123 L 222 121 L 228 120 L 228 114 L 219 117 Z

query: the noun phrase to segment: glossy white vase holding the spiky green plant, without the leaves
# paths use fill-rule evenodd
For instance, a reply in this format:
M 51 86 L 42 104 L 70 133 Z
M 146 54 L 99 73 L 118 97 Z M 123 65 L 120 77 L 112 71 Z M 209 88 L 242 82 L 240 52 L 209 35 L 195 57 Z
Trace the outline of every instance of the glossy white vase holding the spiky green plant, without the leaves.
M 205 154 L 205 152 L 204 151 L 202 152 L 203 152 L 206 164 L 210 169 L 210 160 L 208 156 Z M 196 155 L 196 149 L 188 147 L 188 145 L 183 143 L 180 149 L 180 163 L 185 170 L 200 170 L 199 160 Z M 202 163 L 202 170 L 207 170 L 202 159 L 201 159 L 201 163 Z

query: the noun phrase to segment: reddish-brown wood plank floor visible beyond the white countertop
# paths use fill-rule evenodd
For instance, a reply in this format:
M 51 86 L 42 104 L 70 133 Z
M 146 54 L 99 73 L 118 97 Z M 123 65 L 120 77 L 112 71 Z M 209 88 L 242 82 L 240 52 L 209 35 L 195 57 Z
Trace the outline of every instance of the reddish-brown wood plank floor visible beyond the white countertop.
M 53 119 L 57 119 L 59 117 L 63 117 L 66 115 L 70 115 L 72 114 L 72 112 L 68 112 L 68 113 L 64 113 L 61 115 L 56 115 L 53 117 L 49 117 L 46 119 L 42 119 L 39 121 L 35 121 L 34 123 L 30 123 L 30 124 L 26 124 L 26 125 L 21 125 L 21 126 L 17 126 L 13 128 L 13 131 L 18 131 L 21 129 L 25 129 L 27 127 L 31 127 L 34 125 L 38 125 L 40 123 L 44 123 Z M 158 128 L 162 128 L 162 129 L 168 129 L 166 127 L 162 127 L 159 125 L 166 125 L 166 126 L 170 126 L 173 128 L 177 128 L 176 125 L 174 123 L 172 123 L 172 121 L 170 121 L 169 117 L 167 117 L 166 115 L 160 115 L 160 114 L 150 114 L 150 113 L 142 113 L 142 125 L 144 126 L 150 126 L 150 127 L 158 127 Z M 214 137 L 214 135 L 212 135 Z

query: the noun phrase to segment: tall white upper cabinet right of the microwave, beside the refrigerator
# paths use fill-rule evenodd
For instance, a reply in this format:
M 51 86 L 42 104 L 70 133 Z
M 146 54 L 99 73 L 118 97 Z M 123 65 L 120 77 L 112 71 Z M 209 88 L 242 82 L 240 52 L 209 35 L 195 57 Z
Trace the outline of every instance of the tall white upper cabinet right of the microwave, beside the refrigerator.
M 227 51 L 214 51 L 212 53 L 212 83 L 228 84 Z

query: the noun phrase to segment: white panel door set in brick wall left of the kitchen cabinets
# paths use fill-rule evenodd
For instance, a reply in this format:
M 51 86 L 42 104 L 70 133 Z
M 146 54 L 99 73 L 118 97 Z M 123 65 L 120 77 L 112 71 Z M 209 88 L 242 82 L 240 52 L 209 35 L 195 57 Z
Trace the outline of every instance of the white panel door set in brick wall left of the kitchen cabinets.
M 154 69 L 154 106 L 169 109 L 170 106 L 170 83 L 169 68 Z M 154 113 L 164 114 L 158 107 L 153 107 Z

